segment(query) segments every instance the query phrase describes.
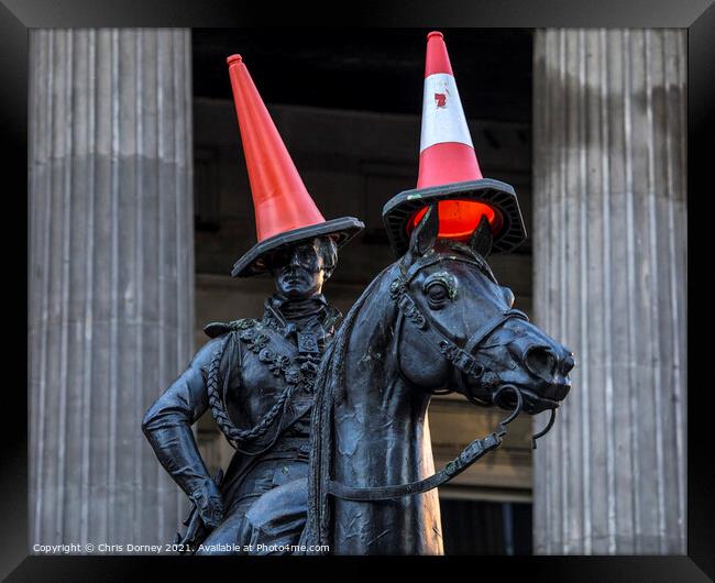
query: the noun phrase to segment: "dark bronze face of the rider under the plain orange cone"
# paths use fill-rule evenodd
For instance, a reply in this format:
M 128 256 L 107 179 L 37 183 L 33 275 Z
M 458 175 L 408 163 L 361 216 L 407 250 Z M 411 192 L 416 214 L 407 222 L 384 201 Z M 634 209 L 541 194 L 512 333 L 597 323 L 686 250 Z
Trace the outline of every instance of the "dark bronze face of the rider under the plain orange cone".
M 324 262 L 315 242 L 275 256 L 271 273 L 278 293 L 290 299 L 307 299 L 320 294 L 326 279 Z

